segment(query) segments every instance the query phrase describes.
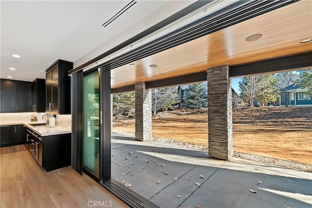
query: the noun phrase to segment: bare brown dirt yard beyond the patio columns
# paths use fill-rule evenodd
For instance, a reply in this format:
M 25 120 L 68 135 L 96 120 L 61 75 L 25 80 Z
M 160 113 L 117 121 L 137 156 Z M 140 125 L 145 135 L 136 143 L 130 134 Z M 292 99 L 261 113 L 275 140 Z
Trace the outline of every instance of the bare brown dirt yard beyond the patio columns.
M 153 115 L 153 136 L 208 145 L 207 109 Z M 135 120 L 114 121 L 113 129 L 135 132 Z M 233 147 L 243 152 L 312 165 L 312 106 L 236 107 Z

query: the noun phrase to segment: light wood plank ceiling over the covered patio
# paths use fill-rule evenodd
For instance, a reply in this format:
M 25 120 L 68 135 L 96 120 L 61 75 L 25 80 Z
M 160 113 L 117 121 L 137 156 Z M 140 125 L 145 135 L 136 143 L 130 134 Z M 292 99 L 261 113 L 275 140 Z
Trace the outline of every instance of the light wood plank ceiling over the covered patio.
M 252 42 L 253 34 L 263 37 Z M 312 51 L 312 1 L 302 0 L 113 69 L 112 88 Z M 150 64 L 158 67 L 151 68 Z M 160 73 L 165 73 L 160 75 Z

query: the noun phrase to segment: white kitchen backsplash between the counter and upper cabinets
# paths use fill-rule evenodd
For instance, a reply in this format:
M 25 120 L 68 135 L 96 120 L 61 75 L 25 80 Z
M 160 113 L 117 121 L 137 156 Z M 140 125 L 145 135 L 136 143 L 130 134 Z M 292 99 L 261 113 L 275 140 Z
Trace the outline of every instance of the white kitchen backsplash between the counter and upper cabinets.
M 42 119 L 44 113 L 0 113 L 0 124 L 10 124 L 10 123 L 27 123 L 30 122 L 30 116 L 34 114 L 37 116 L 39 122 L 46 122 L 47 117 Z M 59 115 L 55 120 L 58 126 L 71 126 L 72 125 L 72 115 Z

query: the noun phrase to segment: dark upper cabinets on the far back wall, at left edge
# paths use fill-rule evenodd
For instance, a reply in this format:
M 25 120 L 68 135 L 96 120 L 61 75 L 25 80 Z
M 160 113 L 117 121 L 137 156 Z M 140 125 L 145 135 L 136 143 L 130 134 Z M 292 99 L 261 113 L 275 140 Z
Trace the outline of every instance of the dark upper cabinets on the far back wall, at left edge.
M 32 82 L 1 79 L 1 113 L 32 111 Z

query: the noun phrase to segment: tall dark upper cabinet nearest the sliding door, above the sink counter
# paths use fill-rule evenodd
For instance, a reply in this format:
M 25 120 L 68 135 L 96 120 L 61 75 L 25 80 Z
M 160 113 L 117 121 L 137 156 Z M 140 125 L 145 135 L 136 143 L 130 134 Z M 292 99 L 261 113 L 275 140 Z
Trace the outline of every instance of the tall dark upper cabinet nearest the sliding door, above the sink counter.
M 73 62 L 57 60 L 46 71 L 46 111 L 59 114 L 71 113 L 70 76 Z

